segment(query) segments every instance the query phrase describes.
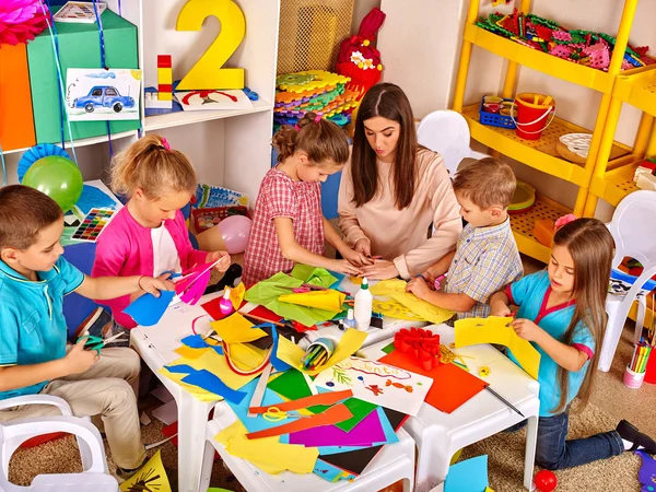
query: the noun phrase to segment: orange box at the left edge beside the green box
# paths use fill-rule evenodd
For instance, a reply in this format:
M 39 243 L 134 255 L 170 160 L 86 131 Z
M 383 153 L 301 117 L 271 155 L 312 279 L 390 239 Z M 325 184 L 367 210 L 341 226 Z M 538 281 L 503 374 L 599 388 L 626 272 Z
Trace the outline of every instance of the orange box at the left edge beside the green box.
M 0 48 L 0 145 L 3 151 L 36 143 L 25 45 Z

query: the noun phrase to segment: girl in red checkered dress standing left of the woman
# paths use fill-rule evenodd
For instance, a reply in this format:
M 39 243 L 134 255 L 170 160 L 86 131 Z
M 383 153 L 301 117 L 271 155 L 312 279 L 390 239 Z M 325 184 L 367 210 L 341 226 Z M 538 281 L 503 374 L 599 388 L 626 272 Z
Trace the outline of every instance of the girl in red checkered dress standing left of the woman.
M 242 280 L 250 286 L 294 263 L 359 274 L 366 260 L 341 239 L 321 213 L 321 183 L 349 160 L 345 133 L 307 113 L 295 127 L 273 136 L 278 165 L 260 185 Z M 344 259 L 324 257 L 324 239 Z

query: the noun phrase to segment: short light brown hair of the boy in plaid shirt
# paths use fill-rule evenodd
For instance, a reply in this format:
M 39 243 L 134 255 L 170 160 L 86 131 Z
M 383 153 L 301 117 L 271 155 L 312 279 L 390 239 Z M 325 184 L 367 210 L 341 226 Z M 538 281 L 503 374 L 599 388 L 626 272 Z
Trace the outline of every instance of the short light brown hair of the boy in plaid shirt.
M 500 206 L 507 209 L 513 201 L 517 180 L 511 166 L 494 157 L 481 159 L 458 171 L 454 191 L 481 210 Z

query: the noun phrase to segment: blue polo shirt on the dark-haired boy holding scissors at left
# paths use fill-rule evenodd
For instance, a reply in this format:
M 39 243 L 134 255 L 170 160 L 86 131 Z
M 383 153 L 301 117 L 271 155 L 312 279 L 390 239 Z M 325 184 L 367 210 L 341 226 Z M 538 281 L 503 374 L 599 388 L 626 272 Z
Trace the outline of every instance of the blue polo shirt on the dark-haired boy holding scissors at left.
M 84 274 L 59 257 L 33 282 L 0 260 L 0 365 L 32 365 L 66 355 L 68 329 L 63 296 L 78 289 Z M 0 400 L 39 393 L 48 382 L 0 391 Z

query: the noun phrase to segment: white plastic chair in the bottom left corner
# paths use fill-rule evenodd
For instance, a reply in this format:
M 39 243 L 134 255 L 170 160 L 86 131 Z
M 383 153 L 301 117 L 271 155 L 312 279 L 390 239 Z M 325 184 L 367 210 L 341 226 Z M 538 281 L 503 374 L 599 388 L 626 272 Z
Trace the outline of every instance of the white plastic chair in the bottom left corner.
M 117 492 L 118 482 L 107 470 L 103 438 L 98 430 L 84 419 L 73 417 L 61 398 L 30 395 L 0 401 L 0 410 L 23 405 L 51 405 L 61 411 L 57 417 L 35 417 L 0 423 L 0 491 L 2 492 Z M 39 475 L 31 487 L 9 481 L 9 461 L 25 441 L 37 435 L 66 432 L 75 435 L 82 458 L 82 473 Z

